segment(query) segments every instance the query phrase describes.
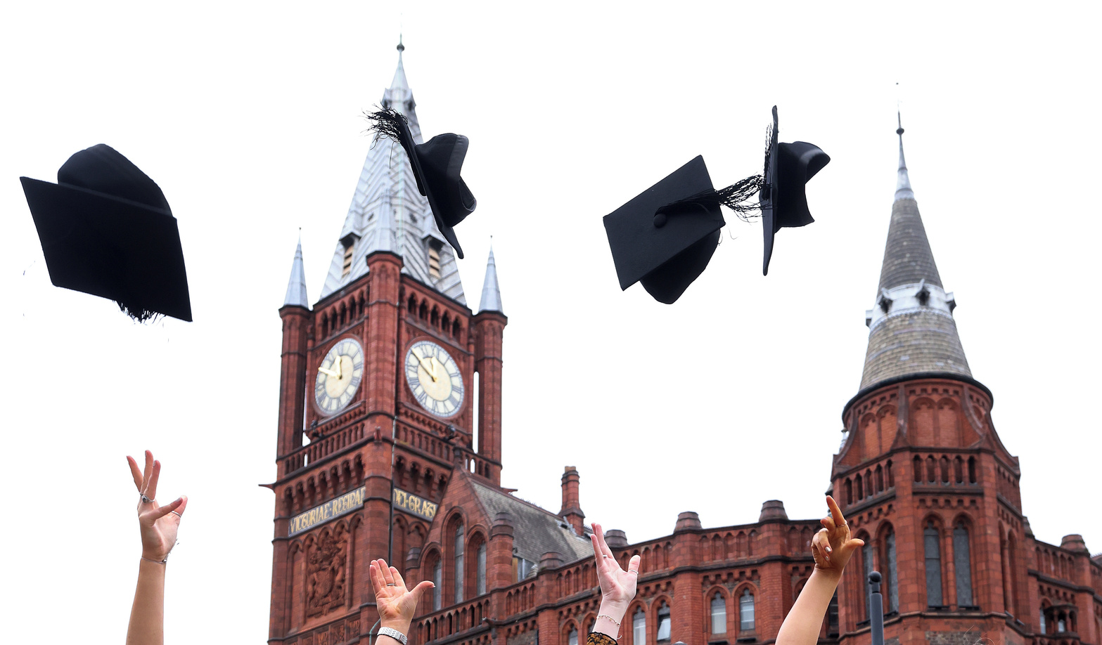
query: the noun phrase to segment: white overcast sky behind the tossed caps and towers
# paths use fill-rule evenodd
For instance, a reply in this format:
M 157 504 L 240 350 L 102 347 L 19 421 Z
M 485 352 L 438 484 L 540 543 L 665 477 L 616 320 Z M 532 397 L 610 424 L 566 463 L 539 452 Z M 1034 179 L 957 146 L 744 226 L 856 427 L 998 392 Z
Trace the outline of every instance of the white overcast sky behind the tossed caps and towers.
M 509 326 L 503 484 L 552 511 L 564 464 L 633 542 L 784 500 L 818 517 L 861 380 L 896 181 L 911 183 L 974 376 L 1039 539 L 1098 512 L 1098 9 L 1087 3 L 14 3 L 0 13 L 0 325 L 12 641 L 121 642 L 138 566 L 123 456 L 191 496 L 166 642 L 268 636 L 280 319 L 299 228 L 316 299 L 404 61 L 426 135 L 471 139 L 458 228 L 489 238 Z M 656 6 L 657 7 L 657 6 Z M 1090 11 L 1091 13 L 1085 13 Z M 897 89 L 896 83 L 899 83 Z M 728 217 L 673 306 L 622 293 L 602 216 L 698 154 L 715 184 L 781 141 L 832 161 L 815 223 Z M 108 143 L 180 221 L 195 322 L 134 325 L 51 286 L 18 177 Z

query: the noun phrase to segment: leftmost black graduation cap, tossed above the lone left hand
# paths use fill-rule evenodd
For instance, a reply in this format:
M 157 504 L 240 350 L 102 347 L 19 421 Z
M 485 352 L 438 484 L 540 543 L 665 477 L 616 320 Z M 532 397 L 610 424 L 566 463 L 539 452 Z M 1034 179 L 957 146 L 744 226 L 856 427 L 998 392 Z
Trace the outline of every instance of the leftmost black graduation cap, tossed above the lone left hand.
M 161 188 L 100 143 L 57 183 L 20 177 L 55 286 L 110 298 L 132 318 L 192 320 L 180 231 Z

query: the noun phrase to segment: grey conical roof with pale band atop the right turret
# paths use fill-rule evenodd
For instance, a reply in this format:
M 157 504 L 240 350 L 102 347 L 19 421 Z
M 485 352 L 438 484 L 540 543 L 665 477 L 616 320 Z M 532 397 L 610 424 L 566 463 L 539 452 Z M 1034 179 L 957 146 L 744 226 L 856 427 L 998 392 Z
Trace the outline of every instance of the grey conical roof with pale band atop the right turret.
M 957 334 L 953 294 L 941 284 L 938 265 L 918 212 L 903 154 L 876 306 L 865 313 L 868 350 L 861 389 L 919 374 L 972 376 Z

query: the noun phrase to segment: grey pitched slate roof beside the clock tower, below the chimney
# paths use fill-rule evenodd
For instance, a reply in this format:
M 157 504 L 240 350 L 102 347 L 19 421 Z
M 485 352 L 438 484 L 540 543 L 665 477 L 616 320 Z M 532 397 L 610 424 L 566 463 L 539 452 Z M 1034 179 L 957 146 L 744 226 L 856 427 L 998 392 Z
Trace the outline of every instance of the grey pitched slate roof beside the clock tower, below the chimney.
M 512 546 L 517 556 L 537 564 L 548 551 L 562 554 L 563 564 L 593 557 L 590 538 L 575 535 L 570 524 L 554 513 L 474 478 L 471 485 L 490 520 L 503 512 L 512 517 Z

